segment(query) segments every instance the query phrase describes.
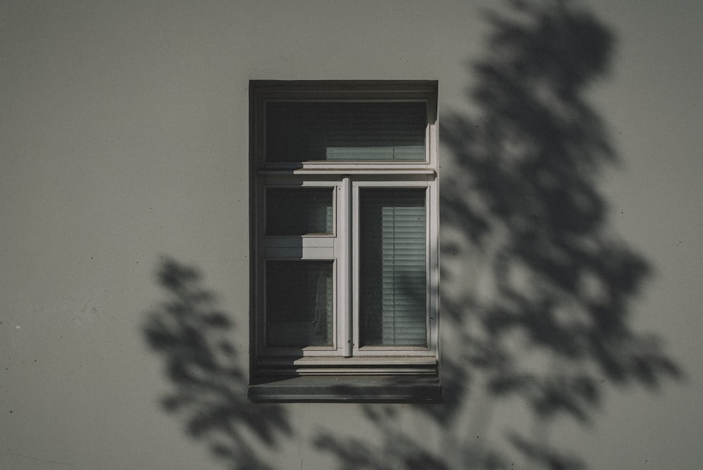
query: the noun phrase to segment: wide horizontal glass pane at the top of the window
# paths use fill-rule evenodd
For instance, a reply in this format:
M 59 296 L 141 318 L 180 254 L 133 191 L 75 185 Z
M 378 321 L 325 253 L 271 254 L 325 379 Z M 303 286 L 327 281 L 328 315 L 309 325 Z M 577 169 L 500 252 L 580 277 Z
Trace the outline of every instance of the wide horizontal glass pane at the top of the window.
M 269 162 L 425 161 L 425 103 L 266 103 Z

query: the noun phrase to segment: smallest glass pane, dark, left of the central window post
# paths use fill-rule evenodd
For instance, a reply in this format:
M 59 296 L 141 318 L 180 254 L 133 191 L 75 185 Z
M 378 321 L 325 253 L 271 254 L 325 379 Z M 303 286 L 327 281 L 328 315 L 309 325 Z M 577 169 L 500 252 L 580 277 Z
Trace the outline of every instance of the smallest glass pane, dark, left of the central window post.
M 266 190 L 266 235 L 331 235 L 333 188 Z

